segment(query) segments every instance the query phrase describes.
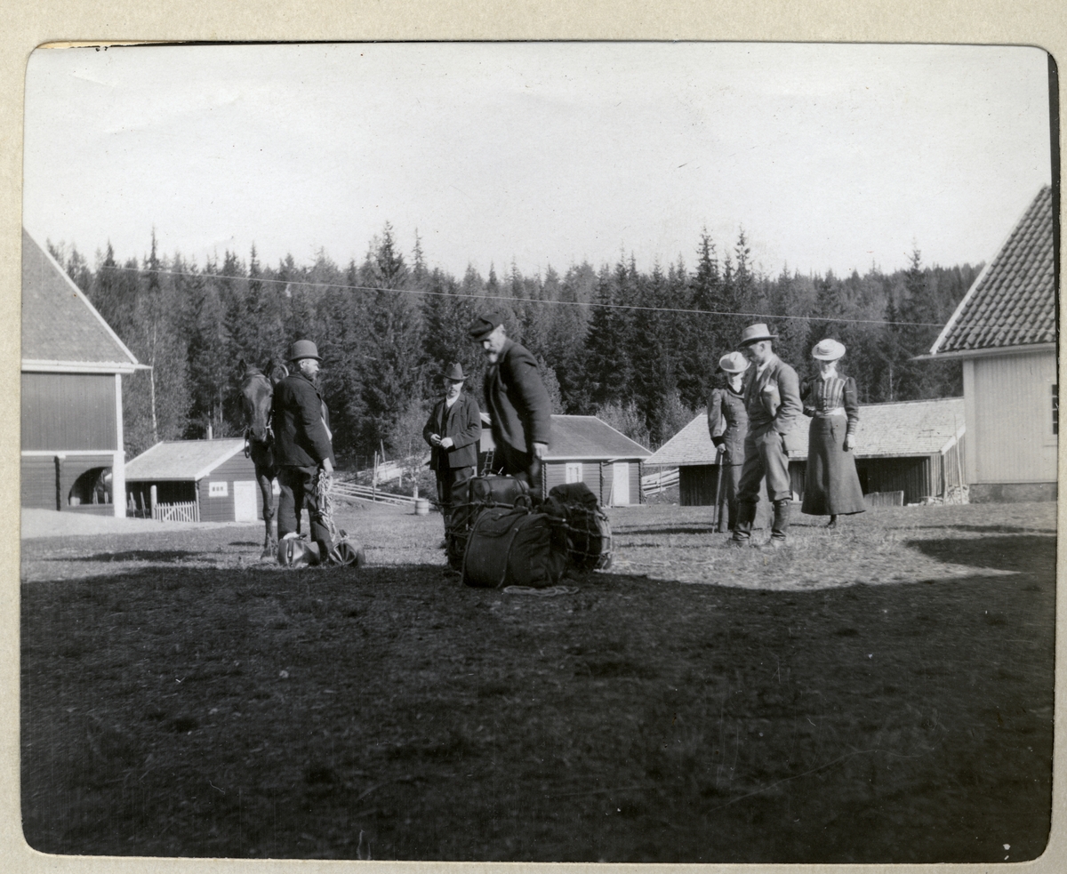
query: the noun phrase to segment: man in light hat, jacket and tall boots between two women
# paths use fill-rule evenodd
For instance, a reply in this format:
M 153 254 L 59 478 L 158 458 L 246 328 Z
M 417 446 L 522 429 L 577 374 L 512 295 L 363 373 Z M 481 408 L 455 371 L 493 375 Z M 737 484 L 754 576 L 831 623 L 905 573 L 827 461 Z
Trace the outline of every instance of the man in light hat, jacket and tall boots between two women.
M 732 542 L 748 544 L 760 500 L 760 481 L 767 478 L 767 494 L 775 506 L 770 545 L 785 544 L 790 527 L 790 459 L 785 434 L 801 415 L 800 381 L 796 370 L 775 354 L 777 339 L 766 324 L 750 324 L 742 332 L 740 347 L 754 365 L 745 378 L 745 410 L 748 434 L 745 436 L 745 463 L 737 488 L 737 526 Z

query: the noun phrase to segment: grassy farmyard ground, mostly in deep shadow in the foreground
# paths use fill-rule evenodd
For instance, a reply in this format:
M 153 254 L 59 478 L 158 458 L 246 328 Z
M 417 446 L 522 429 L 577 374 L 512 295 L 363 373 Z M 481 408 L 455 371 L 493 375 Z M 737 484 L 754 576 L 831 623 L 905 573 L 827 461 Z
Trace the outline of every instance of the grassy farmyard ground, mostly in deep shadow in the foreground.
M 260 529 L 22 543 L 22 811 L 49 853 L 1019 861 L 1051 804 L 1055 508 L 901 508 L 782 552 L 612 510 L 576 594 Z M 810 524 L 806 524 L 810 523 Z

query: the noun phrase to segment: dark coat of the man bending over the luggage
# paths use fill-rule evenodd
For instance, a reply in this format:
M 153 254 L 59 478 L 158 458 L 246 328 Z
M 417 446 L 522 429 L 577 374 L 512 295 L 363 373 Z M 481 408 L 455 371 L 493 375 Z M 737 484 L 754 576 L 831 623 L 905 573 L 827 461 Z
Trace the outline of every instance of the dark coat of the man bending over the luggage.
M 485 409 L 498 446 L 507 443 L 519 452 L 532 452 L 535 443 L 548 444 L 552 401 L 537 360 L 510 339 L 485 374 Z

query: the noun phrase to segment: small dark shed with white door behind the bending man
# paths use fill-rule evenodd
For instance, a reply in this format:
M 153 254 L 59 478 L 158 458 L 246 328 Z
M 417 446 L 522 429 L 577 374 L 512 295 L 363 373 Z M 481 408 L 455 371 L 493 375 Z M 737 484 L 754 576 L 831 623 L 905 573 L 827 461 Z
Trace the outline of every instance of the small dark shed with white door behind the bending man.
M 481 418 L 479 452 L 483 456 L 493 449 L 493 434 L 489 414 L 482 413 Z M 547 494 L 564 482 L 585 482 L 604 506 L 640 504 L 641 464 L 650 455 L 650 449 L 596 416 L 554 415 L 541 492 Z

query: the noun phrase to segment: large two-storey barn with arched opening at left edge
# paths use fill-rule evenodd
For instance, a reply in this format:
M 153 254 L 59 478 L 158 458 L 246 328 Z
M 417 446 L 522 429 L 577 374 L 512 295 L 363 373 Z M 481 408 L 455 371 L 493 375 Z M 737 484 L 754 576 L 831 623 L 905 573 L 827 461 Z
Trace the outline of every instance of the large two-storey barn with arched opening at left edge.
M 23 228 L 21 506 L 125 515 L 122 378 L 143 368 Z

